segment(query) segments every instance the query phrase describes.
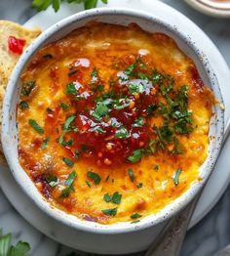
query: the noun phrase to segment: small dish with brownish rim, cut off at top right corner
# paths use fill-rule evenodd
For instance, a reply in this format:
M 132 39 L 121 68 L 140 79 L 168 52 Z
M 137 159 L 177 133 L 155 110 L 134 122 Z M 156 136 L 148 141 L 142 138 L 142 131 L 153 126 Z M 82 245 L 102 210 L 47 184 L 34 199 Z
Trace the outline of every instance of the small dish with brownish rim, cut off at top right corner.
M 206 15 L 217 18 L 230 18 L 229 0 L 185 0 L 185 2 Z

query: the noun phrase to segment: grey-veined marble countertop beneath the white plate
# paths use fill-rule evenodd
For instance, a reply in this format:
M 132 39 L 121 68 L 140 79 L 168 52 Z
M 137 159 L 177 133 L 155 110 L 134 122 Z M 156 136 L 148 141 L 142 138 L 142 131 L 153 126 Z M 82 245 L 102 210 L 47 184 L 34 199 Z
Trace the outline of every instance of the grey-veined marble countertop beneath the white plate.
M 181 11 L 197 23 L 211 37 L 225 61 L 230 66 L 230 25 L 229 20 L 218 20 L 199 14 L 190 9 L 182 0 L 163 2 Z M 0 20 L 23 23 L 35 14 L 30 8 L 30 0 L 1 0 Z M 229 167 L 230 168 L 230 167 Z M 211 212 L 188 232 L 180 253 L 181 256 L 210 256 L 221 247 L 230 243 L 230 187 L 223 194 Z M 42 235 L 30 226 L 13 208 L 0 190 L 0 228 L 4 233 L 14 234 L 14 240 L 26 240 L 31 245 L 33 256 L 64 256 L 73 250 L 51 238 Z M 71 255 L 86 255 L 75 252 Z M 134 255 L 134 254 L 133 254 Z M 141 256 L 143 253 L 137 253 Z

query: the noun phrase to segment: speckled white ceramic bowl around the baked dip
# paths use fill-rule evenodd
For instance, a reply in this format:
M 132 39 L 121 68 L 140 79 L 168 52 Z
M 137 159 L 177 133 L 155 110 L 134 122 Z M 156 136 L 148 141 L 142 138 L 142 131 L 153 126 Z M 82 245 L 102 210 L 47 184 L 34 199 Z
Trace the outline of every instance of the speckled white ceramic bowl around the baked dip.
M 214 114 L 211 118 L 210 135 L 213 136 L 213 139 L 211 140 L 209 148 L 209 157 L 200 168 L 203 181 L 191 186 L 187 192 L 184 192 L 159 213 L 149 215 L 136 224 L 119 223 L 114 225 L 101 225 L 80 220 L 73 215 L 60 211 L 58 208 L 52 207 L 44 199 L 42 194 L 38 192 L 30 178 L 19 165 L 18 130 L 16 121 L 17 104 L 19 102 L 21 87 L 19 77 L 25 66 L 40 48 L 64 37 L 72 30 L 92 20 L 123 25 L 135 22 L 146 31 L 163 32 L 173 37 L 180 49 L 193 59 L 203 81 L 211 87 L 211 90 L 220 104 L 223 104 L 215 74 L 211 69 L 206 54 L 200 52 L 196 47 L 196 38 L 190 38 L 186 34 L 186 31 L 180 31 L 178 27 L 172 26 L 144 12 L 128 9 L 95 9 L 59 21 L 43 32 L 19 59 L 19 63 L 10 78 L 4 99 L 2 124 L 3 150 L 16 182 L 23 192 L 25 192 L 39 208 L 64 225 L 78 230 L 80 235 L 84 236 L 84 234 L 88 234 L 88 240 L 84 241 L 84 246 L 79 243 L 76 247 L 97 253 L 119 253 L 118 248 L 121 246 L 121 242 L 126 242 L 126 235 L 133 235 L 135 241 L 134 248 L 145 249 L 146 244 L 149 244 L 149 241 L 152 239 L 151 236 L 149 237 L 149 234 L 157 230 L 159 224 L 164 223 L 164 221 L 168 220 L 185 207 L 207 182 L 221 147 L 224 127 L 223 109 L 219 105 L 214 106 L 212 109 Z M 146 235 L 148 239 L 143 238 L 144 235 Z M 92 243 L 91 239 L 94 239 L 94 243 Z M 78 244 L 77 237 L 76 244 Z M 132 244 L 128 246 L 131 247 Z M 129 252 L 132 251 L 130 247 L 127 249 Z M 123 250 L 123 252 L 124 251 L 126 250 Z

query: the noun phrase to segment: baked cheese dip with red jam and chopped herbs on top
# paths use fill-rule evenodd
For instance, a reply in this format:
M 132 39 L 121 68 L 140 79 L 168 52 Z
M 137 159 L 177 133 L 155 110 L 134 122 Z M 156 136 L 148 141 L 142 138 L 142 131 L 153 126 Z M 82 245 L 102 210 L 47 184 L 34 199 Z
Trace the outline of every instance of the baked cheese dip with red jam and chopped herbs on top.
M 136 223 L 201 180 L 213 96 L 168 35 L 91 22 L 21 81 L 19 162 L 53 206 Z

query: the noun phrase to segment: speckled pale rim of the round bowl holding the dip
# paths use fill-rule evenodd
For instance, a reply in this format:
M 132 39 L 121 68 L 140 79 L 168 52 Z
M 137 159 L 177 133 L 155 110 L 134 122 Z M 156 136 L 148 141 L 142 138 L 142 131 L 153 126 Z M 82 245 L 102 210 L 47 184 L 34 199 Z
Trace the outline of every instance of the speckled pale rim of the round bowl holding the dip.
M 167 29 L 169 29 L 171 32 L 176 33 L 176 36 L 179 37 L 181 40 L 191 40 L 188 35 L 186 35 L 184 32 L 180 31 L 177 27 L 174 27 L 173 24 L 169 24 L 166 21 L 162 21 L 161 19 L 152 16 L 149 13 L 143 12 L 143 11 L 136 11 L 133 9 L 127 9 L 127 8 L 98 8 L 98 9 L 93 9 L 90 11 L 83 11 L 81 13 L 77 13 L 73 16 L 70 16 L 62 21 L 58 21 L 58 23 L 52 25 L 50 28 L 45 30 L 27 49 L 26 51 L 22 54 L 22 56 L 19 59 L 18 64 L 16 65 L 10 80 L 9 84 L 6 90 L 6 94 L 4 97 L 4 103 L 3 103 L 3 122 L 2 122 L 2 145 L 3 145 L 3 150 L 5 153 L 5 156 L 7 158 L 8 164 L 10 166 L 11 172 L 16 180 L 16 182 L 19 184 L 20 189 L 22 189 L 25 194 L 28 195 L 28 197 L 40 208 L 42 209 L 46 214 L 50 215 L 51 217 L 55 218 L 59 222 L 69 226 L 76 228 L 81 231 L 85 232 L 90 232 L 90 233 L 95 233 L 95 234 L 120 234 L 120 233 L 130 233 L 134 231 L 140 231 L 144 229 L 151 228 L 157 224 L 162 223 L 163 221 L 169 220 L 172 218 L 175 214 L 177 214 L 180 210 L 182 210 L 192 199 L 195 197 L 195 195 L 201 190 L 201 188 L 205 185 L 207 182 L 209 176 L 211 175 L 211 170 L 214 166 L 214 163 L 217 159 L 217 155 L 220 151 L 221 148 L 221 143 L 223 139 L 223 131 L 224 131 L 224 118 L 223 118 L 223 113 L 224 110 L 219 107 L 219 134 L 218 134 L 218 140 L 216 141 L 217 147 L 216 150 L 214 151 L 210 161 L 211 161 L 211 167 L 210 170 L 206 172 L 204 176 L 204 181 L 202 181 L 199 184 L 196 184 L 192 188 L 189 188 L 187 192 L 184 192 L 182 195 L 177 197 L 173 202 L 170 204 L 169 207 L 169 212 L 167 213 L 162 213 L 162 211 L 156 213 L 156 214 L 151 214 L 147 217 L 149 217 L 149 220 L 143 222 L 144 219 L 147 217 L 143 218 L 139 223 L 136 224 L 131 224 L 131 222 L 125 222 L 124 225 L 119 225 L 119 224 L 114 224 L 114 225 L 101 225 L 94 223 L 91 226 L 86 225 L 86 221 L 81 221 L 79 218 L 67 214 L 55 206 L 52 206 L 46 199 L 44 199 L 43 195 L 40 194 L 40 198 L 33 197 L 31 193 L 29 193 L 24 186 L 21 184 L 20 180 L 20 175 L 19 172 L 23 171 L 23 169 L 20 167 L 20 170 L 15 171 L 15 165 L 14 161 L 17 161 L 18 159 L 12 159 L 11 157 L 11 150 L 9 149 L 9 140 L 11 140 L 9 131 L 8 131 L 8 126 L 10 124 L 10 109 L 11 105 L 13 104 L 13 96 L 14 96 L 14 91 L 15 87 L 17 86 L 17 82 L 19 80 L 19 75 L 21 71 L 24 69 L 24 66 L 30 61 L 31 57 L 37 52 L 38 49 L 41 48 L 41 45 L 43 45 L 47 39 L 52 38 L 56 32 L 60 29 L 64 29 L 66 26 L 70 25 L 72 22 L 77 22 L 77 21 L 82 21 L 87 18 L 96 18 L 96 16 L 106 16 L 106 15 L 123 15 L 123 16 L 129 16 L 129 17 L 134 17 L 136 19 L 142 19 L 146 21 L 154 21 L 158 24 L 161 24 Z M 64 36 L 63 36 L 64 37 Z M 199 49 L 196 48 L 196 45 L 194 43 L 191 43 L 189 45 L 191 50 L 198 56 Z M 211 70 L 210 64 L 208 64 L 209 68 L 206 67 L 206 65 L 203 63 L 205 62 L 204 60 L 206 56 L 204 55 L 201 63 L 203 64 L 204 69 L 208 72 L 208 70 Z M 207 60 L 206 60 L 207 62 Z M 209 72 L 208 72 L 209 73 Z M 209 74 L 208 74 L 209 76 Z M 210 76 L 209 76 L 210 78 Z M 211 78 L 210 78 L 211 79 Z M 216 86 L 215 88 L 215 96 L 219 100 L 220 104 L 223 105 L 223 100 L 220 92 L 220 88 L 218 85 L 218 81 L 214 75 L 213 77 L 214 82 L 213 84 Z M 207 157 L 210 158 L 210 155 Z M 24 171 L 23 171 L 24 172 Z M 27 175 L 27 174 L 26 174 Z M 29 178 L 30 180 L 30 178 Z M 34 186 L 34 183 L 30 180 L 30 183 Z M 34 186 L 35 190 L 36 187 Z M 188 193 L 188 194 L 187 194 Z M 169 205 L 167 205 L 168 207 Z M 165 207 L 166 208 L 166 207 Z M 152 218 L 152 219 L 151 219 Z

